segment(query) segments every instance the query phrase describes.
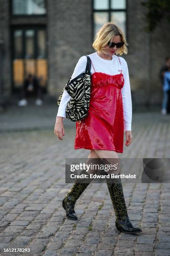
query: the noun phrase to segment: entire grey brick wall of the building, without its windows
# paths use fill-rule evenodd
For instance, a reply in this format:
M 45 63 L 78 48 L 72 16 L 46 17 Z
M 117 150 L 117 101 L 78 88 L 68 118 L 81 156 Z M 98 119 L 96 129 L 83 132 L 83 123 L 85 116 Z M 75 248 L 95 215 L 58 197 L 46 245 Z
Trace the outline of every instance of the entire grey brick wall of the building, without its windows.
M 11 94 L 10 26 L 47 24 L 48 94 L 57 98 L 80 56 L 91 54 L 92 1 L 47 1 L 47 18 L 11 18 L 9 0 L 0 0 L 0 40 L 5 48 L 5 94 Z M 160 104 L 160 67 L 169 54 L 170 25 L 164 19 L 153 33 L 145 32 L 147 9 L 138 0 L 127 1 L 128 63 L 131 90 L 138 103 Z M 12 42 L 11 42 L 12 43 Z

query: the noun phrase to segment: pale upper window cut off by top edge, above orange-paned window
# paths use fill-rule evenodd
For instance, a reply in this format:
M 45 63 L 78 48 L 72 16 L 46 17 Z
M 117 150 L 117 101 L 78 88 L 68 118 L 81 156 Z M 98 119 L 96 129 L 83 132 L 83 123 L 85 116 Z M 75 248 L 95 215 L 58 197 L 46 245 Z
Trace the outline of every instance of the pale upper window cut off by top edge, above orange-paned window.
M 13 15 L 44 15 L 45 0 L 12 0 Z

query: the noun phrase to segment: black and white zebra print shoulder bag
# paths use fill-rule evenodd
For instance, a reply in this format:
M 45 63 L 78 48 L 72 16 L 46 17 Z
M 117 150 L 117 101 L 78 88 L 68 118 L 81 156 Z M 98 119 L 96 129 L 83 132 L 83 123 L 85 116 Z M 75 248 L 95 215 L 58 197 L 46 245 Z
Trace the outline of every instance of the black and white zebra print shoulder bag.
M 86 55 L 87 56 L 87 55 Z M 84 119 L 87 116 L 90 102 L 90 84 L 91 84 L 91 60 L 87 56 L 87 65 L 85 73 L 79 74 L 74 79 L 68 80 L 63 88 L 57 104 L 60 105 L 62 93 L 64 90 L 71 96 L 66 107 L 66 118 L 73 122 Z M 70 81 L 71 80 L 71 81 Z

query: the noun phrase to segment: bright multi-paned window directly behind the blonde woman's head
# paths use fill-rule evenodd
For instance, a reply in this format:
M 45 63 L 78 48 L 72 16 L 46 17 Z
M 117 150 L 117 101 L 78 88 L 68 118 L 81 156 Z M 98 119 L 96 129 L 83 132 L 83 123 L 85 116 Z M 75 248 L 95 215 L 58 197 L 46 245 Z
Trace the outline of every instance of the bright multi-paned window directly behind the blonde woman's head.
M 109 21 L 119 26 L 126 36 L 126 0 L 93 0 L 93 37 Z

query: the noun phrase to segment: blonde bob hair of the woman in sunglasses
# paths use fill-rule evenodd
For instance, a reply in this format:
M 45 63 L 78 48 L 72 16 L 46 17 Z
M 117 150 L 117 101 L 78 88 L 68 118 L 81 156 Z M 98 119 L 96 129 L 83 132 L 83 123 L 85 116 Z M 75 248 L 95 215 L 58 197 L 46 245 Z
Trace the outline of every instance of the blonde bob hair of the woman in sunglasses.
M 117 48 L 117 54 L 128 54 L 127 41 L 122 30 L 113 22 L 105 23 L 95 35 L 95 40 L 92 47 L 95 51 L 103 51 L 105 53 L 105 48 L 109 41 L 112 41 L 114 36 L 120 36 L 121 40 L 125 43 L 121 48 Z

